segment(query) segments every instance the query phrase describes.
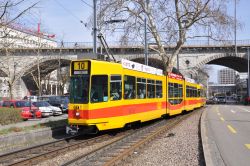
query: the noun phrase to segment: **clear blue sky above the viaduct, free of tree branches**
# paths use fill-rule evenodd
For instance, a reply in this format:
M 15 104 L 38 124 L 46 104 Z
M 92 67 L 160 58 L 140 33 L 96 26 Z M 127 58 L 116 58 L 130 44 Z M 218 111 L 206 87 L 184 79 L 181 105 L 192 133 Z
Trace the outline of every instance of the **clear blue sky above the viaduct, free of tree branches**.
M 237 39 L 250 39 L 250 1 L 237 1 L 237 19 L 242 23 L 242 29 L 237 31 Z M 234 0 L 228 2 L 228 13 L 234 15 Z M 40 21 L 42 29 L 56 34 L 59 41 L 91 42 L 91 27 L 86 28 L 80 20 L 88 22 L 93 13 L 89 6 L 92 3 L 93 0 L 42 0 L 26 20 L 33 27 Z

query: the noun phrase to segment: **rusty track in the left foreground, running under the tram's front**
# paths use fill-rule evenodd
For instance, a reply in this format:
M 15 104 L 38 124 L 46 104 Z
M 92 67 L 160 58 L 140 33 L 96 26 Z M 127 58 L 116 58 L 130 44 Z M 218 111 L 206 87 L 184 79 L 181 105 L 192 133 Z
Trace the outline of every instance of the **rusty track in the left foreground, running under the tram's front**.
M 82 139 L 81 136 L 72 136 L 65 139 L 41 144 L 0 155 L 0 165 L 34 165 L 51 159 L 69 150 L 90 146 L 94 143 L 109 139 L 108 134 L 94 138 Z

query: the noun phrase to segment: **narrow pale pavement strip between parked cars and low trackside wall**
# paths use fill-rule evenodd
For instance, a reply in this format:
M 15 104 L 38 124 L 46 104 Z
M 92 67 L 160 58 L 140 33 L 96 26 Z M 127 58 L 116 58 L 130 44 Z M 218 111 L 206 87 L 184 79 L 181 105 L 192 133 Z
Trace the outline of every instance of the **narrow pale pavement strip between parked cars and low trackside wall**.
M 50 116 L 47 118 L 29 119 L 27 121 L 23 121 L 23 122 L 19 122 L 19 123 L 14 123 L 14 124 L 9 124 L 9 125 L 0 125 L 0 130 L 8 129 L 11 127 L 33 126 L 33 125 L 40 124 L 40 123 L 45 123 L 45 122 L 50 122 L 50 121 L 58 121 L 58 120 L 67 119 L 67 118 L 68 118 L 68 114 L 63 114 L 60 116 Z

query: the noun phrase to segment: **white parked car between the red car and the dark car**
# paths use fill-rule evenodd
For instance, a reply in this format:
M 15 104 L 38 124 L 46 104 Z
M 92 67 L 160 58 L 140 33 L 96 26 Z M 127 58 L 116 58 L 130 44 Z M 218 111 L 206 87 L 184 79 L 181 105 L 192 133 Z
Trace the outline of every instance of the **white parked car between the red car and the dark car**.
M 47 101 L 33 102 L 33 105 L 42 111 L 43 117 L 50 115 L 62 115 L 62 110 L 59 107 L 52 106 Z

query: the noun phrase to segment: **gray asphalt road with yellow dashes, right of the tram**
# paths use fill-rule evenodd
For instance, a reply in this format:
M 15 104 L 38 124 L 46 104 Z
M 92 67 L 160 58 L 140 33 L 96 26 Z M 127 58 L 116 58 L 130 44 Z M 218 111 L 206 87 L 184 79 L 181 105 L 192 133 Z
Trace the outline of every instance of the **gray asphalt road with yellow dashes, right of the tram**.
M 207 165 L 250 165 L 250 106 L 209 105 L 201 124 Z

